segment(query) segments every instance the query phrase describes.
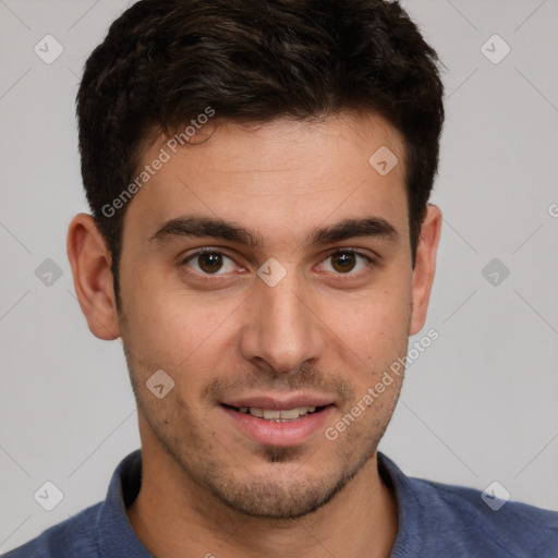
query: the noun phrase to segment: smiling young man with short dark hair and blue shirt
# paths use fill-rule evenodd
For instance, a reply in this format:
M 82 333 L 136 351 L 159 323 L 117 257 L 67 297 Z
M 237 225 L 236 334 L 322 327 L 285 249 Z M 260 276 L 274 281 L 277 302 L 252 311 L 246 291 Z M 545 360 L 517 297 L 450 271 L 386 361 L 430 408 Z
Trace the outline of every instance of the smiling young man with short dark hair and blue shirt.
M 123 340 L 142 451 L 7 556 L 558 555 L 558 513 L 377 451 L 435 275 L 436 62 L 380 0 L 143 0 L 113 23 L 78 93 L 93 216 L 68 247 L 92 332 Z

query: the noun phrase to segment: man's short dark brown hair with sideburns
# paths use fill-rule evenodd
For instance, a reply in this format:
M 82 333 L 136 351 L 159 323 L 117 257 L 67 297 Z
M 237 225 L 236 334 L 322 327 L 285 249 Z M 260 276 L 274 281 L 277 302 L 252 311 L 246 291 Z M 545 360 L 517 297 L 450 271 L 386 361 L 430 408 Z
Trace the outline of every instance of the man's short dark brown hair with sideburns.
M 125 207 L 150 130 L 219 119 L 312 119 L 343 109 L 385 117 L 403 135 L 414 264 L 438 168 L 442 84 L 435 50 L 397 2 L 141 0 L 88 58 L 77 94 L 87 199 L 112 255 L 118 295 Z

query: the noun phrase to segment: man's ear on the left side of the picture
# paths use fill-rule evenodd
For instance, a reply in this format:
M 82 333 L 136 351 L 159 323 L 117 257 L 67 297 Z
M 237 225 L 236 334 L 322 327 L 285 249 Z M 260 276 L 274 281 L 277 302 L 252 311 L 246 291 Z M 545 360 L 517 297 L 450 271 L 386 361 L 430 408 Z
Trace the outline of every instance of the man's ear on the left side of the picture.
M 112 284 L 112 262 L 105 239 L 90 215 L 76 215 L 68 230 L 68 257 L 75 294 L 92 333 L 110 341 L 120 337 Z

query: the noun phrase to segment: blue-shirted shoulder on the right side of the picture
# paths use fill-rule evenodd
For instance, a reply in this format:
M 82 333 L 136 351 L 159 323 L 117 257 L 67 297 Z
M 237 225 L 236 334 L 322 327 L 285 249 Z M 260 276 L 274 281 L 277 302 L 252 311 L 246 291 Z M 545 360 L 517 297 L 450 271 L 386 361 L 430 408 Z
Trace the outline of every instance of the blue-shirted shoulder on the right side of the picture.
M 408 477 L 385 456 L 379 462 L 400 513 L 393 557 L 411 549 L 420 557 L 558 556 L 558 512 L 496 500 L 494 494 L 483 497 L 476 488 Z

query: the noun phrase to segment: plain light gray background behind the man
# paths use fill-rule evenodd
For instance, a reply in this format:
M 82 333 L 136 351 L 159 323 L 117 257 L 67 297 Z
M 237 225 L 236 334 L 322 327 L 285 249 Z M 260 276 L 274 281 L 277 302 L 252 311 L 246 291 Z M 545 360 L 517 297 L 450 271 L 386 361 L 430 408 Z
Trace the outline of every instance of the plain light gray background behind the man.
M 0 553 L 100 500 L 140 444 L 121 343 L 89 333 L 65 254 L 68 223 L 87 210 L 76 87 L 126 5 L 0 0 Z M 380 449 L 410 475 L 498 481 L 558 509 L 558 2 L 404 5 L 447 66 L 432 199 L 444 231 L 417 338 L 440 337 L 409 368 Z M 34 51 L 47 34 L 64 49 L 51 64 Z M 482 49 L 494 34 L 511 48 L 499 63 L 485 56 L 504 53 L 499 39 Z M 47 258 L 62 271 L 51 284 L 35 274 Z M 482 274 L 493 258 L 510 271 L 496 286 Z M 64 495 L 50 512 L 34 499 L 46 481 Z

